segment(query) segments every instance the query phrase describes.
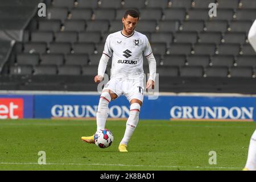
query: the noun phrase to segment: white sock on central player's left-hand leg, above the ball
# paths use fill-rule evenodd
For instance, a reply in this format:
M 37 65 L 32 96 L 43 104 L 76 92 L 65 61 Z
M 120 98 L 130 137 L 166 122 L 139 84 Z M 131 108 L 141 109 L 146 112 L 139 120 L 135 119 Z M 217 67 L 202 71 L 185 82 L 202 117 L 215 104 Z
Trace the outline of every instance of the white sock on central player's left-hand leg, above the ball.
M 97 131 L 105 129 L 106 119 L 109 115 L 109 102 L 111 96 L 108 92 L 102 92 L 100 102 L 98 103 L 98 110 L 96 113 Z

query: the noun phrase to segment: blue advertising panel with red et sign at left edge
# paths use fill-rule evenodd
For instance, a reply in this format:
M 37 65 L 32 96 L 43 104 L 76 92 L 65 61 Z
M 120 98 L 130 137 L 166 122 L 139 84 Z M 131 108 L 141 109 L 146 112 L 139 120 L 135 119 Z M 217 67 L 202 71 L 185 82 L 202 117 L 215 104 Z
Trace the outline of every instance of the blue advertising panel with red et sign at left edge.
M 0 119 L 33 118 L 33 98 L 30 95 L 0 94 Z

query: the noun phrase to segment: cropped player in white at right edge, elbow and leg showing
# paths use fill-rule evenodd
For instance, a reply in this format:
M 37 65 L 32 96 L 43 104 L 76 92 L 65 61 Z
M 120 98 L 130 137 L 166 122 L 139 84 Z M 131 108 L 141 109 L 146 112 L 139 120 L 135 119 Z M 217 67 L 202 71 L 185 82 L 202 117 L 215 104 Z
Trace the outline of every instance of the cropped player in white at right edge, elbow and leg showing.
M 256 20 L 254 20 L 253 26 L 251 26 L 248 39 L 256 52 Z M 250 139 L 247 162 L 243 171 L 256 171 L 256 130 Z

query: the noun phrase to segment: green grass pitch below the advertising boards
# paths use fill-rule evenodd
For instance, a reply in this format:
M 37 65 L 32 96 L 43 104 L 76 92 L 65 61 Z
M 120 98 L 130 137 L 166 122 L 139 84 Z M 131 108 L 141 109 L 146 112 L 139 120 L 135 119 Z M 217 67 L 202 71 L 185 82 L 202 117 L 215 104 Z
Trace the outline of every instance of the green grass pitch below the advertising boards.
M 96 121 L 22 119 L 0 121 L 0 170 L 241 170 L 256 122 L 139 121 L 118 152 L 126 121 L 107 121 L 109 148 L 84 143 Z M 39 151 L 46 165 L 39 165 Z M 217 164 L 209 164 L 216 151 Z

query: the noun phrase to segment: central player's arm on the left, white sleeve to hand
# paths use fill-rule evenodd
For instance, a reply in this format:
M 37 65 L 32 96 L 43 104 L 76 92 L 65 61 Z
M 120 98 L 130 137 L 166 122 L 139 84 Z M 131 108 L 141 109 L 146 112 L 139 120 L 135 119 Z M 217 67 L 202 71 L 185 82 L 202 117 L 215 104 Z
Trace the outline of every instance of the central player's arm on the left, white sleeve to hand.
M 104 78 L 104 73 L 108 65 L 109 58 L 112 56 L 112 48 L 110 45 L 110 35 L 106 38 L 106 43 L 104 46 L 104 51 L 102 53 L 100 63 L 98 64 L 98 75 L 94 77 L 94 81 L 101 82 Z

